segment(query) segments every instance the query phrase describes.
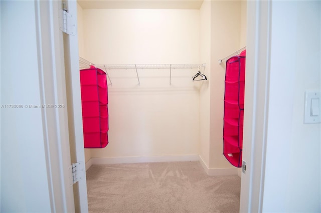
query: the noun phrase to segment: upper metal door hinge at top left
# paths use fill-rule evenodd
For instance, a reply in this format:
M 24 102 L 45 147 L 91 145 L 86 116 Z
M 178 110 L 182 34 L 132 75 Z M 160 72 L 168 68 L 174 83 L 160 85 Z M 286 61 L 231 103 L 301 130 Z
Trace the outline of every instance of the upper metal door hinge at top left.
M 75 35 L 76 34 L 76 18 L 66 8 L 66 3 L 62 3 L 62 8 L 59 13 L 59 29 L 63 32 Z

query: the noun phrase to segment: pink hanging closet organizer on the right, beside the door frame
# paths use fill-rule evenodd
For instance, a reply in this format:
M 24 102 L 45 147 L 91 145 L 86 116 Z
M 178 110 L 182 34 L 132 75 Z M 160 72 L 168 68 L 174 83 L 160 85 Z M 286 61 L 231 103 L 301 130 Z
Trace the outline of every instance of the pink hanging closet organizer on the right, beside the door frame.
M 223 154 L 234 166 L 242 166 L 245 55 L 226 61 L 224 93 Z

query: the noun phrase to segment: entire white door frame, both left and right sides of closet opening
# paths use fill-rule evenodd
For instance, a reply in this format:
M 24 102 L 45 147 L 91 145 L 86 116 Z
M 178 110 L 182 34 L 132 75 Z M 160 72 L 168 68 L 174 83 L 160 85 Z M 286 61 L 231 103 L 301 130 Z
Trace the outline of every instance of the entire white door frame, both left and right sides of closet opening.
M 77 2 L 67 0 L 67 4 L 68 10 L 74 14 L 75 24 L 77 24 Z M 253 60 L 247 60 L 246 64 L 243 159 L 247 161 L 247 171 L 245 174 L 242 173 L 240 212 L 262 211 L 265 132 L 268 113 L 266 106 L 269 80 L 270 6 L 270 1 L 248 1 L 247 58 L 253 58 Z M 71 189 L 67 181 L 68 167 L 71 162 L 70 153 L 77 161 L 85 161 L 78 37 L 77 35 L 64 35 L 64 51 L 62 32 L 58 27 L 57 16 L 61 8 L 61 1 L 37 0 L 36 7 L 38 8 L 36 16 L 39 24 L 39 49 L 43 50 L 40 55 L 43 61 L 41 69 L 43 76 L 40 84 L 44 87 L 44 102 L 52 100 L 57 104 L 67 105 L 68 103 L 68 111 L 67 108 L 56 109 L 55 116 L 51 116 L 47 112 L 44 116 L 44 127 L 47 130 L 48 138 L 46 153 L 52 211 L 88 212 L 86 180 L 81 180 L 74 190 Z M 47 26 L 45 26 L 46 24 Z M 51 45 L 45 46 L 43 44 L 46 43 L 48 37 L 50 37 Z M 51 66 L 48 67 L 45 67 L 47 64 L 44 59 L 46 55 L 51 62 Z M 64 59 L 66 59 L 65 64 Z M 54 95 L 46 89 L 49 82 L 54 87 Z M 69 132 L 66 129 L 69 129 Z M 56 137 L 52 137 L 55 135 L 50 134 L 53 131 L 56 132 Z M 70 146 L 69 141 L 72 143 Z M 71 150 L 70 147 L 75 150 Z M 74 201 L 74 192 L 76 202 Z

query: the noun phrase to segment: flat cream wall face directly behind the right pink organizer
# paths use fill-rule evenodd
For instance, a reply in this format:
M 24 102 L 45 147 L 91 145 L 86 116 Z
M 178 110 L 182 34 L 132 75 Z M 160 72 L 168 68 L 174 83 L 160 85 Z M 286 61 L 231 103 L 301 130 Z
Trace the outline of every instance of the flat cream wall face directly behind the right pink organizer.
M 210 80 L 210 168 L 233 167 L 223 153 L 225 63 L 223 58 L 240 48 L 241 1 L 212 1 Z

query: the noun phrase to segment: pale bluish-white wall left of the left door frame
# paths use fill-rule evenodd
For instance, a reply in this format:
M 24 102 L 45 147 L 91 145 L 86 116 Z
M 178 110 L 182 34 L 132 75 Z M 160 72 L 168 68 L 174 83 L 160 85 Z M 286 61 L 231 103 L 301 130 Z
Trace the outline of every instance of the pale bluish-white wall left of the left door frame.
M 41 103 L 35 13 L 1 1 L 1 104 Z M 51 211 L 42 123 L 38 108 L 1 108 L 2 212 Z

